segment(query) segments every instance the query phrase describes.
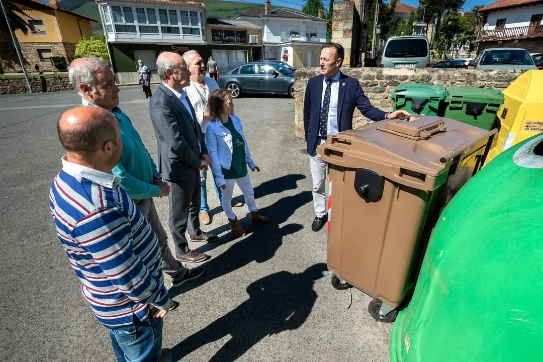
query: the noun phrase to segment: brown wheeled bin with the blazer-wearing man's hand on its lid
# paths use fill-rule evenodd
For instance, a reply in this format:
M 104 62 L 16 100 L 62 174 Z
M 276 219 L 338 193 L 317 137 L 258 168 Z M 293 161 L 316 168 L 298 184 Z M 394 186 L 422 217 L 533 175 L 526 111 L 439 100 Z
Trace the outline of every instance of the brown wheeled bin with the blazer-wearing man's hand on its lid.
M 329 136 L 318 152 L 329 163 L 327 264 L 334 288 L 362 290 L 374 298 L 372 317 L 394 321 L 441 210 L 481 169 L 495 134 L 411 116 Z

